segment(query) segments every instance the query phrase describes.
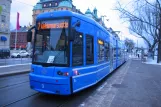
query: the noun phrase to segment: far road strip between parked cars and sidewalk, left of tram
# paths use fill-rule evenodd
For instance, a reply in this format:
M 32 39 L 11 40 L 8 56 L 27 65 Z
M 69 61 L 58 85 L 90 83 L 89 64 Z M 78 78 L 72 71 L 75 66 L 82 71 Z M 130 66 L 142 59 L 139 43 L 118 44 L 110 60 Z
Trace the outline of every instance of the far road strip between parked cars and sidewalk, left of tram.
M 0 59 L 0 66 L 31 63 L 31 58 Z

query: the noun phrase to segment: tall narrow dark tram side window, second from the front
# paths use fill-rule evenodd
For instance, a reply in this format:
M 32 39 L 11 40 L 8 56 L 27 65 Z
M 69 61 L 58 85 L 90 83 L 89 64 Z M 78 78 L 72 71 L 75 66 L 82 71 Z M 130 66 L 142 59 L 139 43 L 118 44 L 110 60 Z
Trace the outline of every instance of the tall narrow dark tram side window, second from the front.
M 86 35 L 86 64 L 94 63 L 94 54 L 93 54 L 93 37 Z

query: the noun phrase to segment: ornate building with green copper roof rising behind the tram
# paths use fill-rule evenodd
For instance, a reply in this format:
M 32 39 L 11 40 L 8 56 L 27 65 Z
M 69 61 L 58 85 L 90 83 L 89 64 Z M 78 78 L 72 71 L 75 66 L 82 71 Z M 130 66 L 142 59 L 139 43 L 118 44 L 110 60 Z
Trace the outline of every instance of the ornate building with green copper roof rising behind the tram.
M 40 0 L 33 8 L 33 25 L 35 25 L 36 16 L 44 12 L 52 12 L 58 10 L 70 10 L 83 14 L 79 9 L 76 9 L 76 6 L 72 4 L 72 0 Z M 88 8 L 85 12 L 85 15 L 93 18 L 101 25 L 104 25 L 102 18 L 99 18 L 97 15 L 97 9 L 94 8 L 93 12 Z

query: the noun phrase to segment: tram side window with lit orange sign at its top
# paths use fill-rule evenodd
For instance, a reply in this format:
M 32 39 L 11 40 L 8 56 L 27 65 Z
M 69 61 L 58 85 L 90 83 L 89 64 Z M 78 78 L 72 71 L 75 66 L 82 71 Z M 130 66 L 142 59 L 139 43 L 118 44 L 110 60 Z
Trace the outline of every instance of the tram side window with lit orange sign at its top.
M 98 52 L 98 62 L 99 63 L 103 62 L 104 61 L 105 52 L 104 52 L 104 42 L 102 40 L 98 40 L 97 52 Z

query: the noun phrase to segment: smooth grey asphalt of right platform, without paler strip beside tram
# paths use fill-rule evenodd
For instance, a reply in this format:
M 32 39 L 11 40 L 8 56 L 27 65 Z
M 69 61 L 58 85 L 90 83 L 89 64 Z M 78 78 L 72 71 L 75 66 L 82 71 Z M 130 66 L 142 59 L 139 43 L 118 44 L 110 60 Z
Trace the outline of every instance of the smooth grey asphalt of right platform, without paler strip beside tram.
M 116 87 L 110 107 L 161 107 L 161 65 L 132 59 L 122 83 Z

